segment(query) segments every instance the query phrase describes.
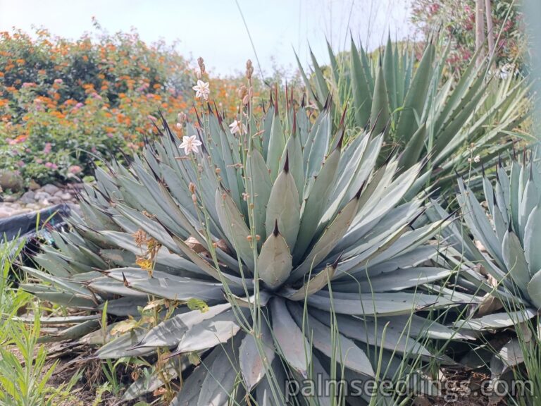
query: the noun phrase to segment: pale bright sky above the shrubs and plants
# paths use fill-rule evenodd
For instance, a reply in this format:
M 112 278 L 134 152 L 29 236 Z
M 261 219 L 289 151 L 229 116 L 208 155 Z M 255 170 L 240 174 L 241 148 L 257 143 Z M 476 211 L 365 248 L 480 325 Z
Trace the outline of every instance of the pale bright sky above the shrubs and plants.
M 263 70 L 293 70 L 293 49 L 309 61 L 308 44 L 326 61 L 325 38 L 344 49 L 349 32 L 369 48 L 411 37 L 410 0 L 237 0 Z M 207 70 L 228 75 L 256 63 L 235 0 L 0 0 L 0 30 L 45 27 L 77 38 L 92 32 L 95 16 L 108 32 L 135 27 L 142 39 L 178 40 L 187 57 L 203 56 Z M 349 44 L 347 45 L 349 47 Z M 257 67 L 257 66 L 256 66 Z

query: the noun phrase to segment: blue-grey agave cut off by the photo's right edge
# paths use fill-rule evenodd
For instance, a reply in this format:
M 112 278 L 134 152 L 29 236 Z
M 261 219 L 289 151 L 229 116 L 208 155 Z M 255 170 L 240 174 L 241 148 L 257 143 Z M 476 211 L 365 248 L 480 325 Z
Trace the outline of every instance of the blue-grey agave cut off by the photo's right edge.
M 541 170 L 524 154 L 513 159 L 509 171 L 500 163 L 491 182 L 483 176 L 484 203 L 467 182 L 459 180 L 459 204 L 466 230 L 454 224 L 444 231 L 449 248 L 445 258 L 462 269 L 457 285 L 474 295 L 478 305 L 456 326 L 478 332 L 515 328 L 492 358 L 492 374 L 499 376 L 524 361 L 526 330 L 536 334 L 541 309 Z M 436 207 L 436 206 L 435 206 Z M 444 210 L 437 207 L 440 215 Z M 431 219 L 437 219 L 434 211 Z M 469 234 L 471 233 L 471 237 Z M 528 326 L 535 325 L 535 328 Z M 530 332 L 527 333 L 531 336 Z M 539 342 L 540 337 L 536 338 Z M 530 343 L 534 343 L 531 337 Z M 532 353 L 533 355 L 533 353 Z

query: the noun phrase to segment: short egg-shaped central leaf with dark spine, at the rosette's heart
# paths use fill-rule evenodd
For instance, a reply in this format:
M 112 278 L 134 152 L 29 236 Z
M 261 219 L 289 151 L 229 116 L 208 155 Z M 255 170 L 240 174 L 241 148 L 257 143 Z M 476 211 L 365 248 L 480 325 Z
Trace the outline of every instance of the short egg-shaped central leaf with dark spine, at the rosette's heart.
M 292 257 L 285 238 L 278 231 L 278 221 L 275 229 L 268 235 L 261 247 L 257 259 L 257 273 L 268 288 L 274 290 L 282 285 L 290 276 Z

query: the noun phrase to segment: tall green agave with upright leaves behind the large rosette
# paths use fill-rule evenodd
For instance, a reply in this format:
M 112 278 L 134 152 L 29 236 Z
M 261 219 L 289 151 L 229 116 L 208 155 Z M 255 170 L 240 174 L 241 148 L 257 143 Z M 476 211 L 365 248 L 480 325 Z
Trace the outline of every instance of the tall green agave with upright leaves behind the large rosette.
M 350 106 L 348 127 L 384 133 L 385 144 L 402 152 L 402 170 L 429 156 L 425 178 L 431 177 L 432 183 L 449 186 L 454 171 L 469 170 L 468 158 L 480 154 L 487 164 L 510 149 L 512 136 L 525 135 L 517 131 L 528 116 L 523 78 L 496 78 L 487 70 L 491 61 L 476 66 L 476 56 L 457 76 L 444 66 L 449 48 L 438 53 L 430 40 L 421 59 L 411 49 L 390 39 L 372 55 L 353 40 L 348 54 L 336 55 L 328 46 L 328 77 L 313 54 L 313 78 L 297 61 L 309 99 L 318 109 L 330 94 L 335 115 Z

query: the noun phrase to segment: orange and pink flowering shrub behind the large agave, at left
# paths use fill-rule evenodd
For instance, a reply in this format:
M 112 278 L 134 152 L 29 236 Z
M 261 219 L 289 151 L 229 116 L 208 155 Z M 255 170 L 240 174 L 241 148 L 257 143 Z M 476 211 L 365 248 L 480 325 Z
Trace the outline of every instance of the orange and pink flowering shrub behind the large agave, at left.
M 0 32 L 0 169 L 38 183 L 91 174 L 154 136 L 158 111 L 170 121 L 193 113 L 196 81 L 173 47 L 135 32 L 76 41 Z M 234 116 L 240 81 L 212 82 L 212 100 Z

